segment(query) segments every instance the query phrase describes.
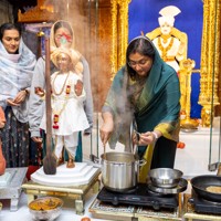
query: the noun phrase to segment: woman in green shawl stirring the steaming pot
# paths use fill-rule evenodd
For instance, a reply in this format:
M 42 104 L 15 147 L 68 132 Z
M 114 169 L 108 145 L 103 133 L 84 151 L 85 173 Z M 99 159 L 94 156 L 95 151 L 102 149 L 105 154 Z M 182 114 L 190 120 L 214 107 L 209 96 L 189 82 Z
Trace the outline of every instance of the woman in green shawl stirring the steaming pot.
M 159 56 L 146 36 L 131 40 L 126 65 L 115 75 L 102 116 L 101 139 L 115 148 L 117 141 L 130 150 L 130 140 L 138 145 L 140 169 L 145 182 L 151 168 L 173 168 L 179 141 L 180 88 L 176 71 Z M 130 133 L 131 125 L 139 136 Z

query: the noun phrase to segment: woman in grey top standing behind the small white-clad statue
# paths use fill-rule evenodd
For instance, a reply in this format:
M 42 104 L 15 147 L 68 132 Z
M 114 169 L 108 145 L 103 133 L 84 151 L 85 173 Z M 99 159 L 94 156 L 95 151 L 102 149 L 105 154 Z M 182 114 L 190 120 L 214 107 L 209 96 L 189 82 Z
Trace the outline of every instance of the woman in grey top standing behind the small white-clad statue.
M 93 126 L 93 98 L 92 98 L 92 90 L 91 90 L 91 78 L 90 78 L 90 69 L 88 63 L 84 59 L 84 56 L 75 50 L 74 42 L 74 31 L 71 28 L 71 24 L 66 21 L 60 20 L 53 24 L 50 32 L 50 48 L 51 52 L 53 52 L 56 48 L 66 48 L 75 51 L 80 59 L 81 64 L 83 65 L 83 84 L 86 92 L 86 99 L 84 102 L 84 109 L 87 116 L 87 120 L 90 123 L 90 128 L 84 130 L 85 135 L 91 134 Z M 51 62 L 51 73 L 54 73 L 56 67 L 53 62 Z M 77 84 L 76 87 L 83 87 L 83 84 Z M 44 102 L 35 94 L 35 87 L 45 88 L 45 60 L 44 57 L 40 57 L 38 60 L 33 81 L 32 81 L 32 90 L 30 94 L 30 113 L 29 113 L 29 124 L 31 137 L 35 143 L 41 143 L 41 134 L 40 134 L 40 123 L 43 117 L 43 112 L 45 108 Z M 76 161 L 82 161 L 82 144 L 81 144 L 81 134 L 78 139 L 78 148 L 76 154 Z M 63 159 L 61 159 L 63 160 Z

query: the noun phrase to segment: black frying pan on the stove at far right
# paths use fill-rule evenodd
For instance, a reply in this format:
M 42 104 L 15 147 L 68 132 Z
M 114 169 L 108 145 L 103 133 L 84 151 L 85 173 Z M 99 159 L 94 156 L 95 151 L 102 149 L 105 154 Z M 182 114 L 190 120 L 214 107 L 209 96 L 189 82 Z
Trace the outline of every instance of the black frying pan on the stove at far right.
M 221 192 L 214 193 L 214 192 L 207 191 L 207 188 L 210 186 L 221 187 L 220 176 L 206 175 L 206 176 L 193 177 L 190 180 L 190 183 L 194 192 L 202 199 L 213 201 L 213 202 L 221 202 Z

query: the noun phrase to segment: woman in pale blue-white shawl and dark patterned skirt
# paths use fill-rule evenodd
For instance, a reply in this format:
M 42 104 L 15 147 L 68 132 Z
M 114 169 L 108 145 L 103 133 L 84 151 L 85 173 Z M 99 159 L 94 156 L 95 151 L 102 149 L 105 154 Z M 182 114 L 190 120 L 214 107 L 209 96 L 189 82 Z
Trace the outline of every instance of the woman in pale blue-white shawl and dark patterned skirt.
M 0 106 L 7 124 L 0 130 L 7 167 L 29 165 L 28 102 L 34 54 L 21 38 L 21 30 L 12 23 L 0 27 Z

